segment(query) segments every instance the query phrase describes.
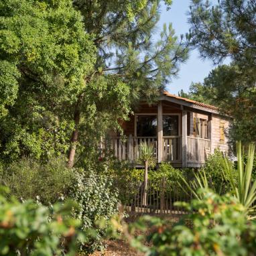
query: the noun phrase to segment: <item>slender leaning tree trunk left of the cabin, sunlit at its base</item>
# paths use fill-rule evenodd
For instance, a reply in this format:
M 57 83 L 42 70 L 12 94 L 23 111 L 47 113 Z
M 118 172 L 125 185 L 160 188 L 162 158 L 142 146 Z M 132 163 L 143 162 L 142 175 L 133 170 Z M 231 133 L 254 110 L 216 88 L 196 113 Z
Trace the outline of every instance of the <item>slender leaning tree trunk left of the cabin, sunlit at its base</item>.
M 72 133 L 70 151 L 68 155 L 68 167 L 72 168 L 74 166 L 74 155 L 76 154 L 76 144 L 78 143 L 78 126 L 80 123 L 80 109 L 79 109 L 79 101 L 76 103 L 76 107 L 74 109 L 74 131 Z

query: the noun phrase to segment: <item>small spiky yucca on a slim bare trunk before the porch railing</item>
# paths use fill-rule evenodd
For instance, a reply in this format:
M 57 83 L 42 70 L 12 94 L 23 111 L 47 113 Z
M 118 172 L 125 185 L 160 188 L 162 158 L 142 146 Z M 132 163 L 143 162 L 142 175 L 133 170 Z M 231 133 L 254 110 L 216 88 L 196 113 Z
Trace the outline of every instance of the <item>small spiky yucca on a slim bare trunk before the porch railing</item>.
M 155 165 L 154 156 L 154 145 L 153 143 L 142 142 L 139 144 L 139 162 L 143 164 L 144 171 L 144 181 L 143 181 L 143 198 L 142 205 L 147 206 L 147 170 L 149 167 Z

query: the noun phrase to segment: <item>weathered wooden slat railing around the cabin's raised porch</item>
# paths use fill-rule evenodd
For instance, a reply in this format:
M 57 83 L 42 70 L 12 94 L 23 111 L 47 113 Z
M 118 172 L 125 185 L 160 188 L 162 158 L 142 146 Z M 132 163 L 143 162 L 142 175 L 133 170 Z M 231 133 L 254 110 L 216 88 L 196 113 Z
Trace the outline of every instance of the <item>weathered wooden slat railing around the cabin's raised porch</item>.
M 115 137 L 109 140 L 109 147 L 119 161 L 129 160 L 137 166 L 139 159 L 139 144 L 146 142 L 154 145 L 155 158 L 158 159 L 157 137 L 132 137 L 122 140 Z M 185 154 L 184 152 L 185 151 Z M 185 147 L 182 148 L 182 136 L 163 137 L 162 161 L 171 162 L 176 167 L 200 167 L 210 153 L 210 139 L 186 136 Z M 186 157 L 186 159 L 182 159 Z M 159 162 L 159 161 L 158 161 Z M 182 164 L 185 162 L 186 164 Z

